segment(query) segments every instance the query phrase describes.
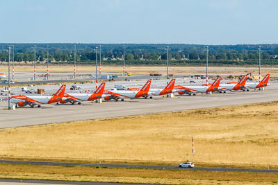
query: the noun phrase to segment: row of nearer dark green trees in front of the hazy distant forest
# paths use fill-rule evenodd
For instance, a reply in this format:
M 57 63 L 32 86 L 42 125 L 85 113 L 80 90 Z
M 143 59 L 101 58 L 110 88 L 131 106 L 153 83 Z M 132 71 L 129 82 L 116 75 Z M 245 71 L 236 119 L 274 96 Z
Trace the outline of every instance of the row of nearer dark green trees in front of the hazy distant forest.
M 111 52 L 112 53 L 112 52 Z M 113 55 L 111 53 L 101 53 L 102 60 L 122 60 L 123 55 L 122 53 L 117 53 Z M 11 56 L 12 57 L 12 56 Z M 47 55 L 44 52 L 38 53 L 36 58 L 40 62 L 44 62 L 47 60 Z M 96 54 L 95 52 L 88 52 L 88 53 L 77 53 L 76 60 L 77 61 L 87 61 L 87 60 L 95 60 Z M 209 60 L 257 60 L 259 58 L 259 53 L 218 53 L 217 55 L 213 55 L 211 53 L 208 54 Z M 273 55 L 269 55 L 267 52 L 261 53 L 261 59 L 270 60 L 275 58 Z M 198 54 L 198 53 L 189 53 L 185 55 L 183 52 L 176 52 L 176 53 L 169 53 L 170 60 L 206 60 L 206 53 Z M 277 57 L 278 59 L 278 57 Z M 34 53 L 15 53 L 15 61 L 18 62 L 27 62 L 34 60 Z M 50 62 L 70 62 L 74 60 L 74 55 L 72 53 L 62 52 L 62 53 L 55 53 L 49 54 L 49 61 Z M 158 55 L 158 53 L 126 53 L 125 60 L 134 61 L 134 60 L 167 60 L 167 54 L 162 53 Z M 8 61 L 8 53 L 0 53 L 0 61 L 5 62 Z

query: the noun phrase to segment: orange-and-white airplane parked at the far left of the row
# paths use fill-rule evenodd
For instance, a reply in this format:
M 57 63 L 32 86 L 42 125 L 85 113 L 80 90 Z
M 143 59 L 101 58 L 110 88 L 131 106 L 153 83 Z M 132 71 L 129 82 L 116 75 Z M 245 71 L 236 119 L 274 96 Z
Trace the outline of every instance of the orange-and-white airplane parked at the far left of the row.
M 66 100 L 67 98 L 64 97 L 65 94 L 65 87 L 66 85 L 62 85 L 60 89 L 56 92 L 56 94 L 52 96 L 12 96 L 10 99 L 11 103 L 15 103 L 16 107 L 24 107 L 26 105 L 30 105 L 32 108 L 35 105 L 40 107 L 40 104 L 50 104 L 50 103 L 57 103 L 60 100 Z

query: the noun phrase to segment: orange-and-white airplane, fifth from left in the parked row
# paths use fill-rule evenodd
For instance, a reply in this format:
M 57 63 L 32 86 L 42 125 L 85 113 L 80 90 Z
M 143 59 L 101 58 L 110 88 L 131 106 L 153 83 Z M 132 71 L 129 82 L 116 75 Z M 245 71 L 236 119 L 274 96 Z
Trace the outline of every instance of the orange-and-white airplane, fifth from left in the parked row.
M 193 94 L 193 96 L 196 95 L 196 93 L 208 93 L 208 92 L 215 92 L 218 91 L 219 89 L 219 85 L 220 85 L 220 81 L 221 81 L 221 77 L 216 78 L 216 80 L 213 82 L 212 85 L 208 85 L 208 86 L 174 86 L 175 89 L 179 89 L 178 92 L 179 94 L 188 94 L 189 96 L 191 96 L 191 94 Z

